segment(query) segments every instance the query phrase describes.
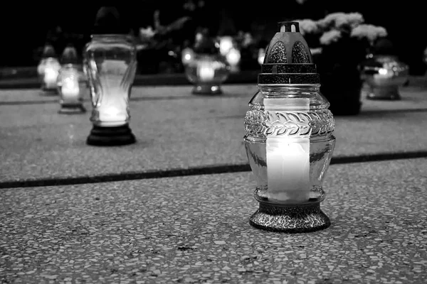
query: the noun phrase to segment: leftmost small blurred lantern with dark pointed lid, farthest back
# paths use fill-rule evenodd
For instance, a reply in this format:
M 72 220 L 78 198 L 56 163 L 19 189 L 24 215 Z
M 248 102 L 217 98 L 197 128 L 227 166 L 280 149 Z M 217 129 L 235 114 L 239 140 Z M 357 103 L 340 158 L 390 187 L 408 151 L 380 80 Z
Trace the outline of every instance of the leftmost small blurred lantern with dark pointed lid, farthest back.
M 47 43 L 43 48 L 41 61 L 37 67 L 38 77 L 41 81 L 41 89 L 43 92 L 56 94 L 58 91 L 56 80 L 58 79 L 59 70 L 60 63 L 58 61 L 55 49 L 51 44 Z

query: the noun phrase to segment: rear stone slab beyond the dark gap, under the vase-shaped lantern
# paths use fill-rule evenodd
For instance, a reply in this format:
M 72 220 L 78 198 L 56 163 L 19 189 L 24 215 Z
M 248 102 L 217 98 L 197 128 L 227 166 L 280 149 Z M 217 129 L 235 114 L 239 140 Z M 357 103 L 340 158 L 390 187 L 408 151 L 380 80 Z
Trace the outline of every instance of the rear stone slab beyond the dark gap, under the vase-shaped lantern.
M 116 148 L 85 145 L 90 112 L 60 115 L 56 104 L 2 105 L 0 182 L 247 163 L 247 103 L 246 97 L 132 102 L 137 143 Z M 338 116 L 334 156 L 426 151 L 426 120 L 427 111 Z

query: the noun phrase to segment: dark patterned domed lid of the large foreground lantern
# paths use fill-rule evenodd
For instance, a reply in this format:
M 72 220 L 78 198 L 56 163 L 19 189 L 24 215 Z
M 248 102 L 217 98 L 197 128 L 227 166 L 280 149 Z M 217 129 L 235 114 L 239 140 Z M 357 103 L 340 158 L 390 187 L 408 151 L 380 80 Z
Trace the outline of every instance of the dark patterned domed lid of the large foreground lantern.
M 266 50 L 258 84 L 320 84 L 316 65 L 297 22 L 280 22 Z M 295 31 L 292 31 L 292 26 Z

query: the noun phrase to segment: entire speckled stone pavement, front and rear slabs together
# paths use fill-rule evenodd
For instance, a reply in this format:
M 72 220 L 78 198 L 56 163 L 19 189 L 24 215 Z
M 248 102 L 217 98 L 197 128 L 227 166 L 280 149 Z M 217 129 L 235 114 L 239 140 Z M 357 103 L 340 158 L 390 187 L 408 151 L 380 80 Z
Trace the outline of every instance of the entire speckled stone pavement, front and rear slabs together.
M 427 90 L 335 117 L 322 202 L 332 226 L 293 235 L 248 224 L 258 204 L 243 116 L 255 90 L 135 87 L 137 143 L 113 148 L 85 145 L 90 112 L 1 91 L 1 282 L 424 283 Z

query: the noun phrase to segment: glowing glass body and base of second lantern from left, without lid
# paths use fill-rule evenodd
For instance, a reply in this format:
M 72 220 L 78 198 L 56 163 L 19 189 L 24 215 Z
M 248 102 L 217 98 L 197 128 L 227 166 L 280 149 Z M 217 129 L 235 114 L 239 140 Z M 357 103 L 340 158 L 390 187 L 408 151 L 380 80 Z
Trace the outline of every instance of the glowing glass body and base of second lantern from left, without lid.
M 88 87 L 77 66 L 63 65 L 59 70 L 57 86 L 60 114 L 81 114 L 86 111 L 83 107 L 83 97 L 88 92 Z

